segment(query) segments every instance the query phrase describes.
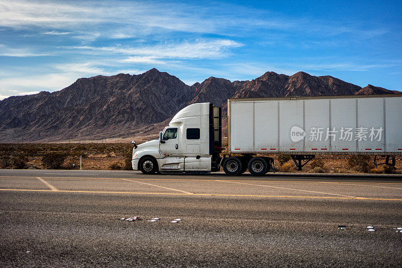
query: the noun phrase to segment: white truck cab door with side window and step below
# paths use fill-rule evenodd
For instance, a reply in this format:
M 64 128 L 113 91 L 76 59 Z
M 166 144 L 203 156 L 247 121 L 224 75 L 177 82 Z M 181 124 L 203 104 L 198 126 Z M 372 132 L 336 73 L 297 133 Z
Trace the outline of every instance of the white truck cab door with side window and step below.
M 162 133 L 159 150 L 162 159 L 158 160 L 160 170 L 184 170 L 184 156 L 179 155 L 179 128 L 168 127 Z

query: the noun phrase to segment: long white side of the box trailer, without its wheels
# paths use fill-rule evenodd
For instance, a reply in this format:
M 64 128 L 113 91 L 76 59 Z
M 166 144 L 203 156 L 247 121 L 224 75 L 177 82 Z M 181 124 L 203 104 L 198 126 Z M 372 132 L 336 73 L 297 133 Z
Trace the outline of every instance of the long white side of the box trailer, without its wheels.
M 228 100 L 229 153 L 402 154 L 402 95 Z

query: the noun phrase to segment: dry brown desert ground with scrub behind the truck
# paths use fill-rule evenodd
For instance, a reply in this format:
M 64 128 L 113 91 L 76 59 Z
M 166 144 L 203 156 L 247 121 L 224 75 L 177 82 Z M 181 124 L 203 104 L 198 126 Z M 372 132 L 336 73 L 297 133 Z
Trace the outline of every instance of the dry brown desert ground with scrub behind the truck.
M 141 143 L 141 142 L 140 142 Z M 2 166 L 5 157 L 24 156 L 27 164 L 24 168 L 41 168 L 42 156 L 48 153 L 61 153 L 66 156 L 62 168 L 79 169 L 80 156 L 82 155 L 81 168 L 87 170 L 119 170 L 130 168 L 130 158 L 133 145 L 131 143 L 2 143 L 0 144 L 0 168 L 13 168 Z M 302 171 L 298 171 L 294 162 L 290 159 L 285 165 L 280 165 L 278 155 L 266 155 L 274 158 L 274 166 L 279 172 L 324 172 L 324 173 L 384 173 L 384 165 L 374 166 L 374 156 L 369 159 L 369 165 L 363 171 L 358 167 L 350 167 L 348 159 L 350 155 L 317 155 L 315 160 L 307 163 Z M 126 160 L 128 161 L 126 162 Z M 314 168 L 319 163 L 320 167 Z M 377 163 L 384 163 L 384 158 L 377 158 Z M 313 166 L 312 166 L 313 164 Z M 396 169 L 393 173 L 402 171 L 402 155 L 396 156 Z M 15 167 L 14 167 L 15 168 Z

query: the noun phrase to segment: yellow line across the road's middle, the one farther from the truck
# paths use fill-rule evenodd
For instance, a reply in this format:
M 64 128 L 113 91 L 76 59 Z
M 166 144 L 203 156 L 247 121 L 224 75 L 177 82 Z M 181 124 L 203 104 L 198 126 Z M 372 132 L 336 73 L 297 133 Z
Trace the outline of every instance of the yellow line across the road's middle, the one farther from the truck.
M 0 189 L 0 191 L 19 191 L 19 192 L 55 192 L 52 190 L 34 189 Z M 272 197 L 272 198 L 310 198 L 310 199 L 355 199 L 355 200 L 383 200 L 383 201 L 402 201 L 394 198 L 364 198 L 364 197 L 312 197 L 312 196 L 265 196 L 265 195 L 229 195 L 229 194 L 193 194 L 184 193 L 141 193 L 141 192 L 108 192 L 108 191 L 70 191 L 58 190 L 57 193 L 95 193 L 95 194 L 136 194 L 136 195 L 176 195 L 176 196 L 223 196 L 223 197 Z

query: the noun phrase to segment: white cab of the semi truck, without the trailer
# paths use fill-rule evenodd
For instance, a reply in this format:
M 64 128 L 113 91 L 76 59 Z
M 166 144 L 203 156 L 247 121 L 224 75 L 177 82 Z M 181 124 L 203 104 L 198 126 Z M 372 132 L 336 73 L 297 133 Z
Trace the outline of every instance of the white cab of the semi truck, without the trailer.
M 221 108 L 211 103 L 189 105 L 173 117 L 158 140 L 133 142 L 133 169 L 145 174 L 217 171 L 221 136 Z

